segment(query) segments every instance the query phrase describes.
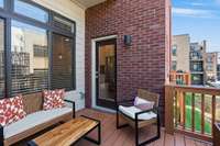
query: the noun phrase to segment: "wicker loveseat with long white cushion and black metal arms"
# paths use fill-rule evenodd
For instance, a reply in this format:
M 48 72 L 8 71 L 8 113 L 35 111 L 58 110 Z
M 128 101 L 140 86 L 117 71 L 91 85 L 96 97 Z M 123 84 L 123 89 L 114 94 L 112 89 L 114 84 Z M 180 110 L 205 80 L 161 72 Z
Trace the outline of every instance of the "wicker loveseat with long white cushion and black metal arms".
M 65 100 L 72 103 L 73 108 L 65 106 L 43 111 L 42 92 L 23 96 L 24 111 L 26 116 L 8 126 L 0 126 L 0 145 L 9 146 L 24 138 L 55 125 L 61 122 L 66 122 L 75 117 L 75 102 Z

